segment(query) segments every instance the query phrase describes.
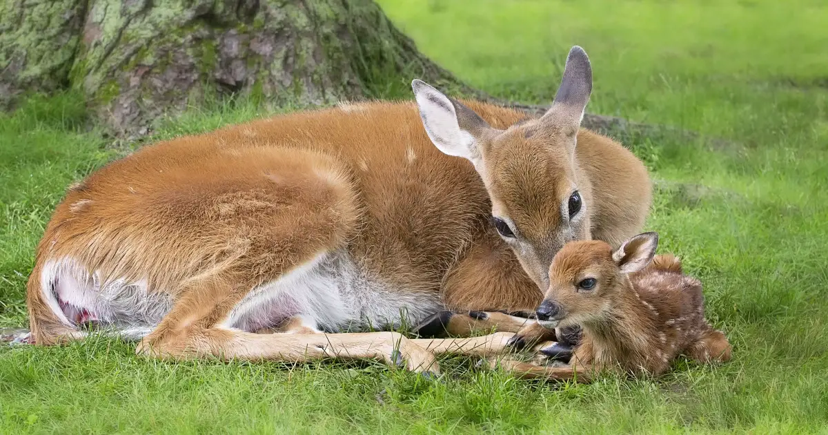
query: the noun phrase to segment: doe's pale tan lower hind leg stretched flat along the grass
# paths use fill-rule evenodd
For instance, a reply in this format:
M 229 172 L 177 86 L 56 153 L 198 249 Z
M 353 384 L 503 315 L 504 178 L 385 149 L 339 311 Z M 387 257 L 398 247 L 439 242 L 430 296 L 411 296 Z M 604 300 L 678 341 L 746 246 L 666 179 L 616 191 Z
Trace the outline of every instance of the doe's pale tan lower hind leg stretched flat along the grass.
M 233 273 L 225 273 L 191 283 L 161 324 L 138 345 L 137 353 L 171 360 L 372 359 L 413 371 L 439 371 L 434 355 L 396 332 L 258 334 L 227 326 L 229 312 L 249 292 L 249 283 L 239 282 Z

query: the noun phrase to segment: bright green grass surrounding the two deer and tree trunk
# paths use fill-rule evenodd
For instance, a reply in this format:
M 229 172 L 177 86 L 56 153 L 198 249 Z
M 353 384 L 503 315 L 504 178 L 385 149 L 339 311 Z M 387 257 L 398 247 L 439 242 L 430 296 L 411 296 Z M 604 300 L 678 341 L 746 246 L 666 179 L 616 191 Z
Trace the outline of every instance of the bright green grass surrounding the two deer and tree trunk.
M 659 180 L 648 230 L 705 283 L 720 367 L 542 386 L 377 365 L 170 365 L 92 339 L 0 349 L 0 433 L 828 433 L 828 7 L 811 2 L 382 0 L 472 85 L 551 99 L 590 53 L 590 111 L 700 132 L 628 143 Z M 4 115 L 0 115 L 4 116 Z M 216 109 L 160 137 L 258 116 Z M 32 252 L 62 191 L 113 155 L 71 95 L 0 118 L 0 326 L 26 322 Z

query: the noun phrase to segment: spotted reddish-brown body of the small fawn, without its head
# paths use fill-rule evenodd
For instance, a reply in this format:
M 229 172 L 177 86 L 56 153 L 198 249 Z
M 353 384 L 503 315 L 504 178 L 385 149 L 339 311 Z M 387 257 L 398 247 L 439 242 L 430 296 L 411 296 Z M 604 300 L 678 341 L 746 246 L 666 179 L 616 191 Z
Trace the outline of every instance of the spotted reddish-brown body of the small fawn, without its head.
M 661 255 L 633 273 L 605 321 L 585 323 L 575 347 L 578 364 L 661 375 L 678 355 L 693 360 L 729 360 L 727 339 L 705 321 L 704 296 L 681 262 Z

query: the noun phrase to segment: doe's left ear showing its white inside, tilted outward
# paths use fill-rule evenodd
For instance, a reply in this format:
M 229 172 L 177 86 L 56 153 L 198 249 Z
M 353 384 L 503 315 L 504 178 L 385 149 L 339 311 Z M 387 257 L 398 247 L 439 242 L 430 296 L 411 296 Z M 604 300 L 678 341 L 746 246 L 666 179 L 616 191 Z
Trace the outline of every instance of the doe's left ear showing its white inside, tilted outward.
M 437 149 L 450 156 L 480 162 L 479 142 L 493 130 L 474 110 L 456 102 L 422 80 L 412 81 L 422 125 Z

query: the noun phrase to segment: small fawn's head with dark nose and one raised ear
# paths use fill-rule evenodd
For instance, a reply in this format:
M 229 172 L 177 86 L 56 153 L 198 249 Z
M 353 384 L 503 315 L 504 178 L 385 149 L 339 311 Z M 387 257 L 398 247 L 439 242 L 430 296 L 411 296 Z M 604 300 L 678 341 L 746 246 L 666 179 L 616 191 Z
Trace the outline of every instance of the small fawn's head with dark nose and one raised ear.
M 628 291 L 626 275 L 647 267 L 657 245 L 658 234 L 652 232 L 634 236 L 615 252 L 599 240 L 566 244 L 549 268 L 538 322 L 551 329 L 601 321 L 619 292 Z

